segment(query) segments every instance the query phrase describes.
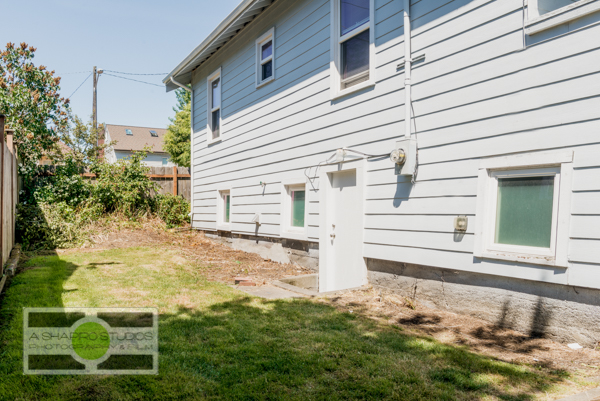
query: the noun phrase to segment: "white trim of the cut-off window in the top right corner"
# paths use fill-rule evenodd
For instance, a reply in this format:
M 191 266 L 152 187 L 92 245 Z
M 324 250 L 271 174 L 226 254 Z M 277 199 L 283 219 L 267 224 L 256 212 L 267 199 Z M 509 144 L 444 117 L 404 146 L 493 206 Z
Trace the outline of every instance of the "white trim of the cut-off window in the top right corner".
M 539 17 L 529 18 L 532 8 L 537 6 L 537 1 L 538 0 L 528 0 L 528 20 L 525 23 L 525 33 L 527 35 L 533 35 L 538 32 L 545 31 L 546 29 L 553 28 L 600 10 L 600 1 L 581 0 L 577 3 L 559 8 Z

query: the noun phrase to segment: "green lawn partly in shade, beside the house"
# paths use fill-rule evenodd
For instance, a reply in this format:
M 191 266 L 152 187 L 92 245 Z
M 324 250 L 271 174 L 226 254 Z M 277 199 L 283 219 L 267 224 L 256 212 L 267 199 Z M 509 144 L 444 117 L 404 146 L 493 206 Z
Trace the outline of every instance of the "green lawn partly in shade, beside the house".
M 0 399 L 534 399 L 566 380 L 310 300 L 208 282 L 172 250 L 38 256 L 0 308 Z M 22 307 L 160 311 L 158 376 L 24 376 Z

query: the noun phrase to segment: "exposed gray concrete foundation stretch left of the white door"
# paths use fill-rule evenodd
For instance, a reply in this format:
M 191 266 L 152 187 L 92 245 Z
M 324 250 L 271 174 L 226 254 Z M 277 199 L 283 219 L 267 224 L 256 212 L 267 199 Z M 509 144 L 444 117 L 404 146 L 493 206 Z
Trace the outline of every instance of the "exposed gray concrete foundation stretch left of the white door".
M 286 238 L 265 238 L 231 234 L 226 231 L 205 233 L 208 238 L 218 240 L 233 249 L 256 253 L 264 259 L 278 263 L 291 263 L 319 270 L 319 243 Z

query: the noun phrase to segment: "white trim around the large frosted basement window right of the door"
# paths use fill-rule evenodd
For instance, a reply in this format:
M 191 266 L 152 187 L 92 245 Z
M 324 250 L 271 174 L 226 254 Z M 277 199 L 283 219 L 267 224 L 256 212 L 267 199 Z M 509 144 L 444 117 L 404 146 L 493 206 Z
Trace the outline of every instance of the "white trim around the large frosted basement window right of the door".
M 556 178 L 551 248 L 543 250 L 535 247 L 494 244 L 497 178 L 554 174 Z M 483 160 L 478 175 L 474 256 L 567 267 L 572 179 L 572 151 L 528 153 Z

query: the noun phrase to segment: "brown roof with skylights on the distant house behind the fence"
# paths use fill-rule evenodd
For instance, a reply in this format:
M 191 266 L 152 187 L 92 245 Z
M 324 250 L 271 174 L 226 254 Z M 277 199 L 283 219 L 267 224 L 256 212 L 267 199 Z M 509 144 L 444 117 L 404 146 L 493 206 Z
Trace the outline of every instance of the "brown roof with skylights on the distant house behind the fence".
M 127 135 L 127 130 L 131 130 L 132 135 Z M 152 136 L 151 130 L 158 136 Z M 145 146 L 150 146 L 153 153 L 166 153 L 163 150 L 163 137 L 167 130 L 164 128 L 106 124 L 106 132 L 111 141 L 117 142 L 112 146 L 114 150 L 143 150 Z

